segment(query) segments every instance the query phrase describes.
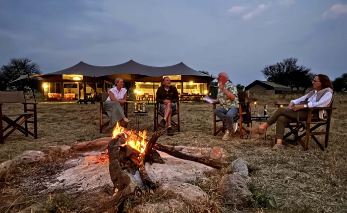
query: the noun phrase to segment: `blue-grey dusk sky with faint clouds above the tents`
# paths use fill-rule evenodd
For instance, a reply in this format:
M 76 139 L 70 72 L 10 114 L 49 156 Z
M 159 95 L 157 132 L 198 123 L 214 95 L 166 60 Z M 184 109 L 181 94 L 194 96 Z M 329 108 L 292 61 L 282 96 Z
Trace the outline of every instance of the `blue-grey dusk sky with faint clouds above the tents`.
M 21 57 L 43 73 L 182 61 L 245 86 L 297 57 L 334 80 L 347 72 L 347 0 L 2 0 L 0 65 Z

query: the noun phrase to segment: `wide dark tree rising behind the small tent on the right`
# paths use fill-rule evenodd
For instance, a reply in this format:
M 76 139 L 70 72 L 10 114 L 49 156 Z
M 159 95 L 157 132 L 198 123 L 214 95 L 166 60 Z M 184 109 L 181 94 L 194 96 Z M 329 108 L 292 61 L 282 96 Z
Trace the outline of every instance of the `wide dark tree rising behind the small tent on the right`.
M 297 65 L 297 58 L 286 58 L 283 61 L 266 66 L 261 72 L 268 81 L 276 82 L 291 89 L 304 90 L 309 88 L 315 74 L 311 73 L 311 69 L 302 65 Z

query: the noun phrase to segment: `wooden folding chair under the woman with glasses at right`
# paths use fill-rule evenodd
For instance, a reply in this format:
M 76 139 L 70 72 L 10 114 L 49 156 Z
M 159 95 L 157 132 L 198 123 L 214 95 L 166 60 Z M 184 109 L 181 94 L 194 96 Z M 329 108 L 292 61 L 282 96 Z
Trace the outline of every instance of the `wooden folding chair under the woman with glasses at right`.
M 277 106 L 288 106 L 289 104 L 276 104 Z M 307 119 L 298 120 L 293 123 L 288 123 L 286 128 L 289 128 L 289 132 L 283 136 L 283 140 L 288 138 L 290 135 L 294 135 L 294 143 L 298 141 L 303 149 L 306 151 L 308 149 L 308 143 L 310 137 L 316 142 L 319 148 L 324 151 L 328 147 L 329 135 L 330 135 L 330 126 L 333 109 L 332 104 L 330 107 L 310 107 L 307 110 Z M 323 119 L 318 117 L 319 110 L 326 110 L 326 115 Z M 323 131 L 315 131 L 318 127 L 325 125 Z M 324 144 L 321 143 L 315 135 L 325 135 Z M 305 137 L 306 136 L 306 137 Z M 302 138 L 305 137 L 304 140 Z M 276 139 L 275 139 L 276 140 Z

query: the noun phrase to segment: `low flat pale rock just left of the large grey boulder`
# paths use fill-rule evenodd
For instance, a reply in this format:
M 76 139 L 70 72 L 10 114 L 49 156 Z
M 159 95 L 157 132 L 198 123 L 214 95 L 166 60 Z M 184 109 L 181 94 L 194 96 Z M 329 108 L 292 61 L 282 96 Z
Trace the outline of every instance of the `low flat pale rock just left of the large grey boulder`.
M 200 187 L 189 183 L 178 181 L 168 181 L 161 185 L 164 190 L 171 190 L 173 193 L 182 196 L 184 200 L 198 204 L 207 202 L 207 194 Z

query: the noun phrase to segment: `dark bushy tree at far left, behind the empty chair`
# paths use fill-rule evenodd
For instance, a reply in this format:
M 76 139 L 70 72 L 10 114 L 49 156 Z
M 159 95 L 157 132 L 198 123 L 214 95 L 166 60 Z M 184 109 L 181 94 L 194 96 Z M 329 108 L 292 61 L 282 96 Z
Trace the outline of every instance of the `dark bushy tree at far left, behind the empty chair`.
M 0 91 L 6 89 L 9 82 L 19 78 L 21 75 L 40 74 L 39 66 L 28 58 L 12 58 L 0 68 Z M 35 83 L 34 83 L 35 84 Z M 11 83 L 17 88 L 17 91 L 26 91 L 30 89 L 28 80 L 21 80 Z

